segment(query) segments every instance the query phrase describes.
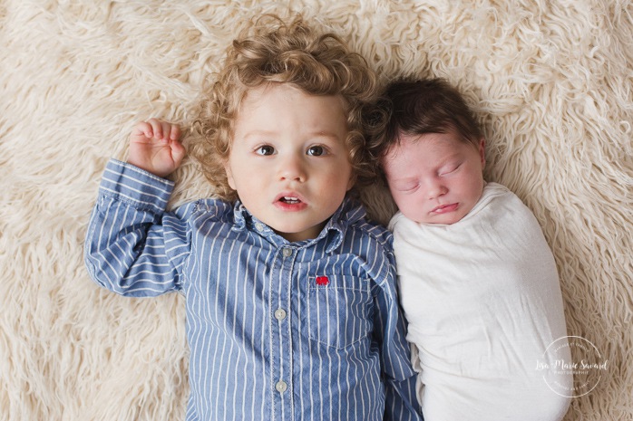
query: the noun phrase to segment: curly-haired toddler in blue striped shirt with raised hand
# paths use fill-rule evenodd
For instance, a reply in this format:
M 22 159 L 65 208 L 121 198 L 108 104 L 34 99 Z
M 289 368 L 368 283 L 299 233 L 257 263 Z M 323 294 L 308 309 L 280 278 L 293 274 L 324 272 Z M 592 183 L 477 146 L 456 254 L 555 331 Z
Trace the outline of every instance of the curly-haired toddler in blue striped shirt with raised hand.
M 184 295 L 188 420 L 421 419 L 392 237 L 347 197 L 374 91 L 335 35 L 267 16 L 200 105 L 194 153 L 220 198 L 165 211 L 175 124 L 139 123 L 108 163 L 85 262 L 113 292 Z

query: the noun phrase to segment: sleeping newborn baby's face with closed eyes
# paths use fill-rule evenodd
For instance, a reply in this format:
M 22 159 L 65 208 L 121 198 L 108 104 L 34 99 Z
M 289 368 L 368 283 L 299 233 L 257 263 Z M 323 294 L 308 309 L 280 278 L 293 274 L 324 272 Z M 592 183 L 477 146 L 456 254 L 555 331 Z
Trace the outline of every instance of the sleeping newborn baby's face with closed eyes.
M 382 164 L 395 203 L 415 222 L 454 224 L 482 196 L 483 139 L 475 148 L 453 131 L 402 135 Z

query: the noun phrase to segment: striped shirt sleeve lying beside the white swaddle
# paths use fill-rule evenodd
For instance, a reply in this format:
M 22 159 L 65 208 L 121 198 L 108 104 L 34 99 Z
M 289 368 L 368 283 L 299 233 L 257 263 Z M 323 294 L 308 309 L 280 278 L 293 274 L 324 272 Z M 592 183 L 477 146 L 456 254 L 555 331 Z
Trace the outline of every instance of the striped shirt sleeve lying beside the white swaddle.
M 388 271 L 376 289 L 375 338 L 382 348 L 385 378 L 385 420 L 414 421 L 424 419 L 415 395 L 416 374 L 411 366 L 410 347 L 406 341 L 404 314 L 395 288 L 394 255 L 387 252 Z

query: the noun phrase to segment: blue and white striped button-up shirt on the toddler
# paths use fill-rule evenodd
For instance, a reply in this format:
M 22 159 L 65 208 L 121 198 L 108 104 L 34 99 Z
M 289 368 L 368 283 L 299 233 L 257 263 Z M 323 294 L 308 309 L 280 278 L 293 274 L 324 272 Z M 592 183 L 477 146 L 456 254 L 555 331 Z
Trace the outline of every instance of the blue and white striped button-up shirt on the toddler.
M 112 159 L 85 263 L 112 292 L 184 295 L 187 420 L 421 419 L 385 228 L 346 200 L 288 243 L 239 202 L 165 212 L 172 188 Z

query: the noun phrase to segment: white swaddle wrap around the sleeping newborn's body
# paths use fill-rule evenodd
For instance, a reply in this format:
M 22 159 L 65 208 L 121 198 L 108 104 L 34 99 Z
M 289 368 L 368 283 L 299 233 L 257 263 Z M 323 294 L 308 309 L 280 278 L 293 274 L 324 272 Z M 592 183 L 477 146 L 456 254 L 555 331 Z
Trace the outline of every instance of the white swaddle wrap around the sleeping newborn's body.
M 398 213 L 390 228 L 425 420 L 562 418 L 569 399 L 548 384 L 571 376 L 537 369 L 566 335 L 559 278 L 521 199 L 488 183 L 456 224 Z

